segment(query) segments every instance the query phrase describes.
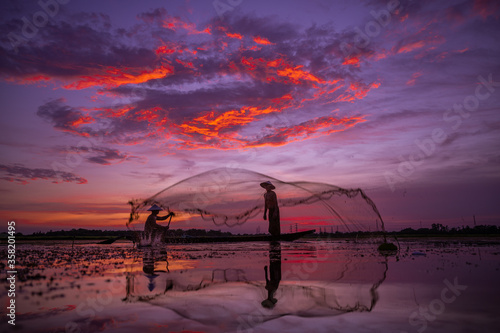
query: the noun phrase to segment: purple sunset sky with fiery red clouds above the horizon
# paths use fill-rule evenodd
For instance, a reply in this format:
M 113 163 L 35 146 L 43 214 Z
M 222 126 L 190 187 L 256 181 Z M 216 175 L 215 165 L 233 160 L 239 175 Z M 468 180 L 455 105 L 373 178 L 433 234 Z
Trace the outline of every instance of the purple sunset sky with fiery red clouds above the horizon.
M 0 9 L 1 230 L 124 229 L 226 166 L 362 188 L 389 230 L 500 224 L 498 1 Z

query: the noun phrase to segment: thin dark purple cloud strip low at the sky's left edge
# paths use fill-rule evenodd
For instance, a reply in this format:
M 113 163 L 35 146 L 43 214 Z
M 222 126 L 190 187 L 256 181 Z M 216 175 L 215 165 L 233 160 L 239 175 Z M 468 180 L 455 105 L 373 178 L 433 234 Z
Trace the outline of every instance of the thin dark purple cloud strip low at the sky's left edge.
M 9 182 L 16 182 L 20 184 L 28 184 L 32 180 L 52 180 L 52 183 L 77 183 L 86 184 L 85 178 L 79 177 L 71 172 L 55 171 L 52 169 L 41 168 L 27 168 L 22 165 L 5 165 L 0 164 L 0 173 L 4 176 L 0 177 L 2 180 Z

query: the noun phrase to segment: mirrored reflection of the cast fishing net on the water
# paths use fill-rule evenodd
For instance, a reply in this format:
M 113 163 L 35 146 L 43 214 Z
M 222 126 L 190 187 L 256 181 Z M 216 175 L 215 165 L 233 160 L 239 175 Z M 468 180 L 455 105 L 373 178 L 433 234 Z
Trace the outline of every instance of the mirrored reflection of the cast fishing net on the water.
M 127 280 L 127 290 L 134 293 L 127 299 L 172 311 L 182 319 L 180 324 L 199 324 L 203 332 L 242 332 L 286 316 L 332 317 L 374 309 L 388 265 L 387 258 L 374 253 L 371 245 L 310 242 L 289 246 L 284 247 L 281 260 L 270 247 L 263 260 L 257 251 L 251 260 L 241 260 L 230 269 L 160 272 L 155 292 L 147 290 L 148 281 L 141 272 L 133 272 L 135 278 Z M 220 258 L 213 265 L 221 267 L 226 260 Z M 268 297 L 264 265 L 273 261 L 280 263 L 281 281 L 274 294 L 277 303 L 268 309 L 261 305 Z M 169 320 L 169 325 L 175 323 Z

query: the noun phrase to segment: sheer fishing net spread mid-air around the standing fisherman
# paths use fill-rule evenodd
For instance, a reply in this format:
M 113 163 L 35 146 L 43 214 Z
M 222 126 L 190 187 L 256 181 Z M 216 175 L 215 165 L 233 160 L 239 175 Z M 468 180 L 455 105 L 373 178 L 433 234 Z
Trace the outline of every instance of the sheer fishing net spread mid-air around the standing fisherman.
M 284 182 L 245 169 L 219 168 L 182 180 L 146 200 L 131 201 L 127 226 L 152 204 L 184 219 L 215 225 L 241 225 L 264 210 L 259 184 L 270 180 L 281 207 L 282 225 L 301 223 L 331 227 L 328 231 L 383 231 L 380 213 L 361 189 L 312 182 Z M 285 223 L 283 223 L 285 221 Z M 333 229 L 335 228 L 335 229 Z

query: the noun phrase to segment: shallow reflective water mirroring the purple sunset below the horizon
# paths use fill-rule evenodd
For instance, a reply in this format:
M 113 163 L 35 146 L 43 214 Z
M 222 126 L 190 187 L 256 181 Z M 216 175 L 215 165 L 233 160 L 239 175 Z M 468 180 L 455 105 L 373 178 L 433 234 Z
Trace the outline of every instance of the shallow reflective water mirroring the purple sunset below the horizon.
M 497 331 L 499 240 L 405 240 L 390 256 L 375 249 L 345 240 L 146 249 L 18 243 L 16 326 L 7 324 L 2 267 L 0 329 Z

